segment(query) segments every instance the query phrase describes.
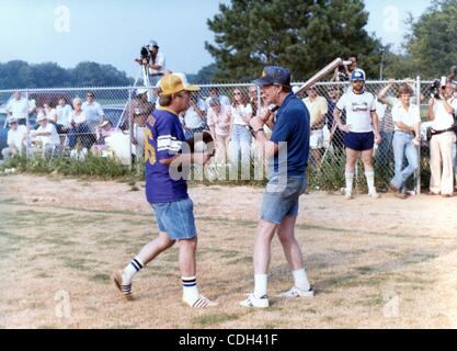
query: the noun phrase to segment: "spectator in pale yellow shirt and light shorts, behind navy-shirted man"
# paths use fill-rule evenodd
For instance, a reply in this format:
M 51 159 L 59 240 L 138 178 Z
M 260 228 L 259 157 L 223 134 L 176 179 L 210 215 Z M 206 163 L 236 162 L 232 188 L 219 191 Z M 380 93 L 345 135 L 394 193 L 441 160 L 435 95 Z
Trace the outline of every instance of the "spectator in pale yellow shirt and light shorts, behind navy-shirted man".
M 319 97 L 316 92 L 316 86 L 311 86 L 306 90 L 307 98 L 302 101 L 308 107 L 310 114 L 311 135 L 309 137 L 309 146 L 311 148 L 312 161 L 316 167 L 320 167 L 323 149 L 323 126 L 325 124 L 325 114 L 329 110 L 327 100 Z

